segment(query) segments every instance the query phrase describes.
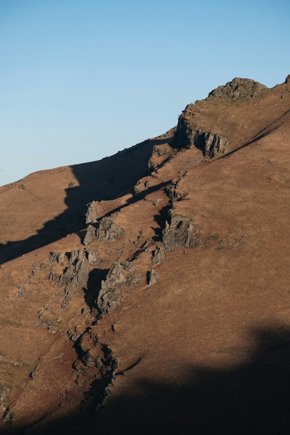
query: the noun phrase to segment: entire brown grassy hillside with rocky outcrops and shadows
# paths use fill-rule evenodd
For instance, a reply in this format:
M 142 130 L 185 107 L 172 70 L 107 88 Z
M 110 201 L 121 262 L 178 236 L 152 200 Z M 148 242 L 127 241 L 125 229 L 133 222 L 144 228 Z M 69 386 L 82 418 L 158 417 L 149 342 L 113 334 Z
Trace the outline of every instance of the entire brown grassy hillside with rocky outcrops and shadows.
M 0 189 L 3 433 L 287 433 L 288 81 Z

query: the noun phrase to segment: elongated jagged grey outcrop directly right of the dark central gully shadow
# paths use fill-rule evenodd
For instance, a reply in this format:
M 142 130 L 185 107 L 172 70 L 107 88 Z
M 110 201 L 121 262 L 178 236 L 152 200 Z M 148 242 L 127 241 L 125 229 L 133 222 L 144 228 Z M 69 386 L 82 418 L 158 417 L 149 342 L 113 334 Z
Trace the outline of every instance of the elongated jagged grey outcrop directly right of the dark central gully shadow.
M 101 283 L 100 293 L 91 313 L 95 317 L 109 313 L 120 304 L 121 293 L 135 287 L 140 281 L 140 269 L 133 262 L 115 261 Z

